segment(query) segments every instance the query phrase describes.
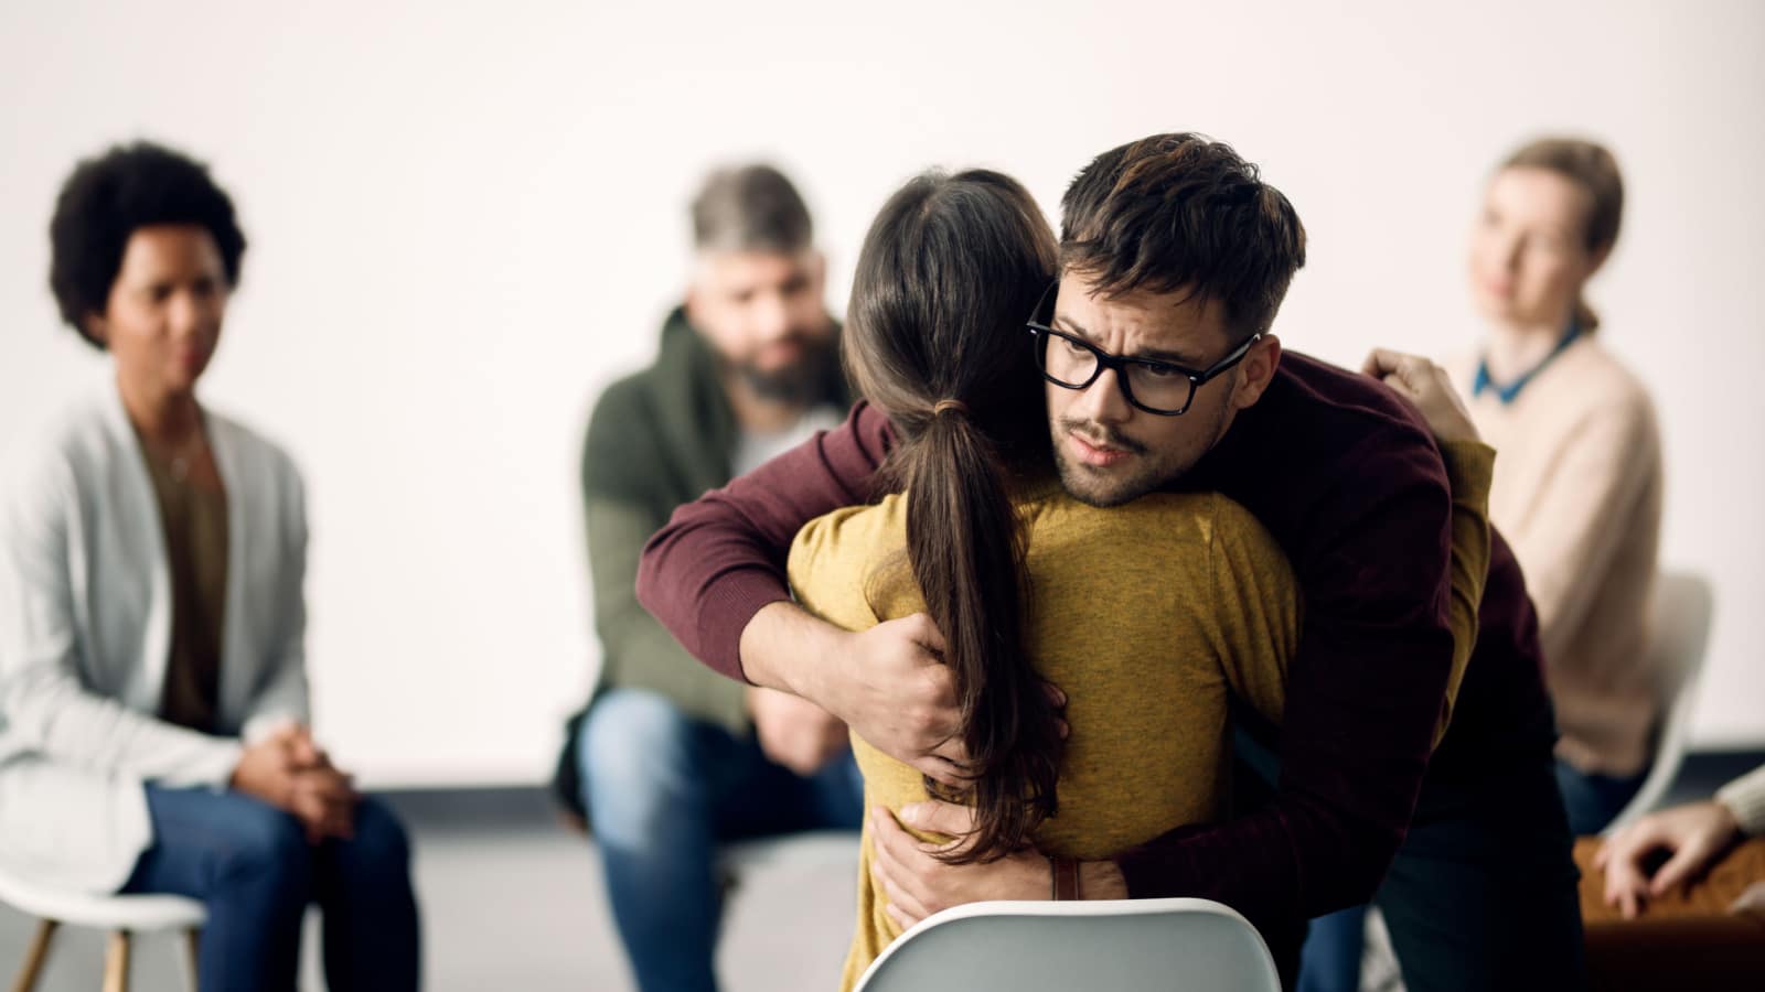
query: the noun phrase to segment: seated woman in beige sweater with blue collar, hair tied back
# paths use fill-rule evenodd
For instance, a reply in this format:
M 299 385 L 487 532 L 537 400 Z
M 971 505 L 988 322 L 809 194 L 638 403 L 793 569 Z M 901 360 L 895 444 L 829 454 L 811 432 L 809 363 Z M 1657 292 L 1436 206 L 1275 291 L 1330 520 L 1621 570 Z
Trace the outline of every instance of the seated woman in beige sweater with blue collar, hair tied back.
M 1557 782 L 1576 835 L 1604 830 L 1641 787 L 1661 715 L 1645 664 L 1661 432 L 1587 304 L 1622 212 L 1619 166 L 1599 145 L 1544 138 L 1509 155 L 1470 237 L 1488 339 L 1454 369 L 1477 431 L 1502 452 L 1490 521 L 1537 607 L 1562 731 Z

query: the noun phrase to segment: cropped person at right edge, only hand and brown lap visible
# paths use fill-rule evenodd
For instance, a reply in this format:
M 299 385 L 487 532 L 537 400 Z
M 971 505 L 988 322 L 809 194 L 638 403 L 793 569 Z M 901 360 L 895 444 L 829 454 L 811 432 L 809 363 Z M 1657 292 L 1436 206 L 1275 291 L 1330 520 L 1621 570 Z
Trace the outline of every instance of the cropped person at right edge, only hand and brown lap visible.
M 1583 837 L 1596 988 L 1721 988 L 1765 974 L 1765 768 L 1716 798 Z

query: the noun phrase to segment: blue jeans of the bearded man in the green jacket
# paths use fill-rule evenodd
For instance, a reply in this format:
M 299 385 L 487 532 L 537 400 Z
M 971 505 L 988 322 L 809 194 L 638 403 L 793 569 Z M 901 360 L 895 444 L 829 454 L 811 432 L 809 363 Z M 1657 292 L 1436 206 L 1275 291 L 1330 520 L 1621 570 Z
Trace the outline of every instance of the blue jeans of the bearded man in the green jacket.
M 858 830 L 863 819 L 851 752 L 801 778 L 768 761 L 752 733 L 732 736 L 653 692 L 604 692 L 579 745 L 607 898 L 644 992 L 717 988 L 720 842 Z

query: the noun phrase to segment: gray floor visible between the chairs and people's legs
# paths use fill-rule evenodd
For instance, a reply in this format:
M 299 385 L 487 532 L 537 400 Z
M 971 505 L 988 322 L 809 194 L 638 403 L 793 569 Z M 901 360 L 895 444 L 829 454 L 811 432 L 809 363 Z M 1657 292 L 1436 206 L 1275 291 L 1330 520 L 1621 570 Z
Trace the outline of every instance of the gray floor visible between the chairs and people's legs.
M 1709 796 L 1765 754 L 1691 755 L 1668 801 Z M 427 988 L 630 988 L 600 868 L 588 842 L 552 821 L 528 789 L 390 796 L 417 842 Z M 851 939 L 856 861 L 768 863 L 743 874 L 724 925 L 720 974 L 729 992 L 824 992 Z M 318 978 L 309 916 L 305 988 Z M 0 983 L 11 983 L 32 921 L 0 906 Z M 102 936 L 56 936 L 41 992 L 99 988 Z M 182 948 L 146 937 L 136 953 L 138 992 L 182 990 Z

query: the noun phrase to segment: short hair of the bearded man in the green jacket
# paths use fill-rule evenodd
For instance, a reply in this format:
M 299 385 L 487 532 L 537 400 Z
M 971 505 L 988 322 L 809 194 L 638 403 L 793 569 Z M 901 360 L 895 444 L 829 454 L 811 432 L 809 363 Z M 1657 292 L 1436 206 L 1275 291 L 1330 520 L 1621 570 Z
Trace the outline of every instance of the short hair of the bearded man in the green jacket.
M 699 251 L 796 254 L 814 240 L 803 198 L 768 164 L 718 169 L 692 198 L 692 244 Z

